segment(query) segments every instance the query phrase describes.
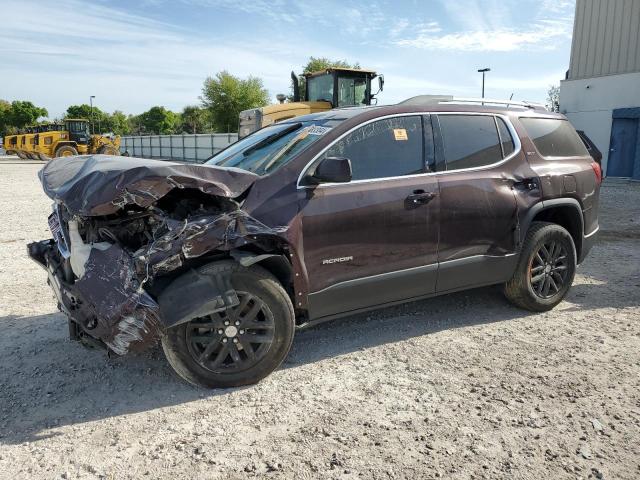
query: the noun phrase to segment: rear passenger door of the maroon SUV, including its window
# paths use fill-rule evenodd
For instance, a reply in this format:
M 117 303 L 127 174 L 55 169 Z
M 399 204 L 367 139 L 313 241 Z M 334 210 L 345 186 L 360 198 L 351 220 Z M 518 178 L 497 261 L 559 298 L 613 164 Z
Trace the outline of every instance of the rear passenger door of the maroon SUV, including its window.
M 438 114 L 437 126 L 437 291 L 505 281 L 515 266 L 519 235 L 516 195 L 523 175 L 516 178 L 515 169 L 528 169 L 518 137 L 492 114 Z

